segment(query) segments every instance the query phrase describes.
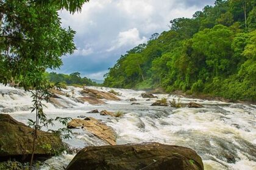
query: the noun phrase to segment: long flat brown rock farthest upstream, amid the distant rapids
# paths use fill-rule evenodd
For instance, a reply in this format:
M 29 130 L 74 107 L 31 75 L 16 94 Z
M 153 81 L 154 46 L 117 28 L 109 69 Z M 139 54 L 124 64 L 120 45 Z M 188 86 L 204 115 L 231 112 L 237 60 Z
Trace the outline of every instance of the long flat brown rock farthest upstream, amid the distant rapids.
M 120 100 L 120 98 L 116 97 L 116 95 L 114 95 L 110 92 L 102 92 L 102 91 L 94 90 L 94 89 L 85 88 L 84 90 L 82 90 L 81 93 L 82 93 L 82 95 L 84 95 L 84 97 L 92 97 L 92 98 L 115 100 L 115 101 Z

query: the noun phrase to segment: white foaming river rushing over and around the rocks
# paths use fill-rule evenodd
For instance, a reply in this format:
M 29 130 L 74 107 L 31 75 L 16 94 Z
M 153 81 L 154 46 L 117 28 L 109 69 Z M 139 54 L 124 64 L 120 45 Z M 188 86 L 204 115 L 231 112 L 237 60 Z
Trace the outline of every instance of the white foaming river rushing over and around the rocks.
M 109 91 L 105 87 L 89 87 Z M 74 89 L 74 90 L 72 90 Z M 180 98 L 182 103 L 194 101 L 204 108 L 175 108 L 151 106 L 157 99 L 146 101 L 141 97 L 143 91 L 114 89 L 119 92 L 121 101 L 106 101 L 107 104 L 93 106 L 77 103 L 80 88 L 68 87 L 64 90 L 71 97 L 63 97 L 67 108 L 55 108 L 46 103 L 44 110 L 48 118 L 71 117 L 80 115 L 98 118 L 113 127 L 117 144 L 157 141 L 194 149 L 202 157 L 205 169 L 256 169 L 256 106 L 252 104 L 223 103 L 199 99 Z M 172 100 L 177 96 L 156 94 L 158 98 Z M 139 105 L 131 105 L 130 98 L 136 98 Z M 0 112 L 12 115 L 18 121 L 27 123 L 33 119 L 30 114 L 31 98 L 29 92 L 0 85 Z M 120 118 L 87 114 L 89 110 L 122 111 Z M 55 123 L 52 129 L 62 127 Z M 73 148 L 91 145 L 104 145 L 104 141 L 88 134 L 82 129 L 73 130 L 73 138 L 66 140 Z M 63 154 L 52 157 L 42 169 L 63 169 L 74 155 Z

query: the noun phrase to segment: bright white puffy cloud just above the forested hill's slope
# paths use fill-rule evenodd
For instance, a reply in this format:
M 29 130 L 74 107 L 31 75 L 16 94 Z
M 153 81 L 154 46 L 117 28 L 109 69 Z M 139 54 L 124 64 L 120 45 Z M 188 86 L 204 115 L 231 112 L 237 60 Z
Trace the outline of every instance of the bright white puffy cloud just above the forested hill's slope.
M 140 38 L 140 32 L 137 28 L 129 29 L 124 32 L 119 32 L 118 38 L 113 41 L 113 46 L 107 49 L 107 52 L 111 52 L 123 46 L 138 46 L 147 41 L 147 38 L 143 36 Z

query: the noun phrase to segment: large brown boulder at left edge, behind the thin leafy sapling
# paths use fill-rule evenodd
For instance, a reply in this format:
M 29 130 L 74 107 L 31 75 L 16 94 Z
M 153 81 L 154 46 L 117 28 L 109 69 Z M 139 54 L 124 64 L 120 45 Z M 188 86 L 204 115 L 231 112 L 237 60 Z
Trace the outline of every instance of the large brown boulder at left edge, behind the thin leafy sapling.
M 32 129 L 25 124 L 16 121 L 8 114 L 0 114 L 0 160 L 5 158 L 30 157 L 33 148 Z M 37 131 L 35 155 L 50 156 L 55 155 L 55 151 L 63 149 L 60 137 L 44 131 Z M 44 144 L 51 145 L 51 150 L 44 149 Z

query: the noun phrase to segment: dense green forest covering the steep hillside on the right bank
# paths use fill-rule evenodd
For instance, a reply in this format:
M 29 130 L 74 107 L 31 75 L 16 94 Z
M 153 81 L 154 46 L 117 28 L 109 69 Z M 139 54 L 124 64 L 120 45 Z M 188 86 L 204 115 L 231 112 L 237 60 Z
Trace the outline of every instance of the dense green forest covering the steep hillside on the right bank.
M 256 100 L 256 1 L 218 0 L 129 50 L 104 86 Z

